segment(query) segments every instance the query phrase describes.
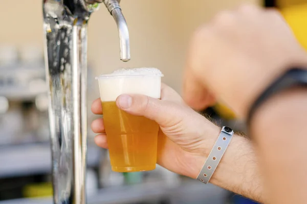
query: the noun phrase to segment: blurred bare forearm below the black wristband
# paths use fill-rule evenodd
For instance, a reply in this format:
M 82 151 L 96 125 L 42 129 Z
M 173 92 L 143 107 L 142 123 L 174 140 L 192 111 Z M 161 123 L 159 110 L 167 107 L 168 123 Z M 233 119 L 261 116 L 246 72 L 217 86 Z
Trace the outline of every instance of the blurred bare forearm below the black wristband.
M 254 115 L 251 133 L 259 150 L 270 203 L 305 203 L 306 115 L 306 89 L 280 93 Z

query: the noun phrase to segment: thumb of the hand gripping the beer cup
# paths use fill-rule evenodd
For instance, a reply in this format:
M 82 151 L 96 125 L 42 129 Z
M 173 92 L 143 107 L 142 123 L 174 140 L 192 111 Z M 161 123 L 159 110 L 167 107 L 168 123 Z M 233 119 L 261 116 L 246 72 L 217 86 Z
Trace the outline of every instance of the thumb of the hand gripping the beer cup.
M 123 94 L 116 99 L 119 109 L 137 116 L 155 120 L 161 126 L 169 126 L 180 122 L 182 111 L 179 105 L 166 100 L 151 98 L 139 94 Z

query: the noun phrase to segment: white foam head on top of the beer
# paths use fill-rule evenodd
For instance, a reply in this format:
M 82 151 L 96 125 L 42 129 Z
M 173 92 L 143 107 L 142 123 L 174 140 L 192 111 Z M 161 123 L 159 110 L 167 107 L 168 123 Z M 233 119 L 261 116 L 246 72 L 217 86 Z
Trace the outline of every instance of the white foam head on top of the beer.
M 123 68 L 102 74 L 99 81 L 101 101 L 115 101 L 121 94 L 143 94 L 160 98 L 161 77 L 157 68 Z

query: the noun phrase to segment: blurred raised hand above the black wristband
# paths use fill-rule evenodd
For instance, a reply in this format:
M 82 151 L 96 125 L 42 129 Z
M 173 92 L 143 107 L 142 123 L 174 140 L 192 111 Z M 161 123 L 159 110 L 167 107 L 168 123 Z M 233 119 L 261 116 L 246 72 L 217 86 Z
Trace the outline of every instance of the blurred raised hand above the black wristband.
M 202 109 L 221 99 L 240 117 L 282 71 L 306 55 L 276 10 L 245 5 L 223 11 L 195 32 L 188 52 L 184 99 Z

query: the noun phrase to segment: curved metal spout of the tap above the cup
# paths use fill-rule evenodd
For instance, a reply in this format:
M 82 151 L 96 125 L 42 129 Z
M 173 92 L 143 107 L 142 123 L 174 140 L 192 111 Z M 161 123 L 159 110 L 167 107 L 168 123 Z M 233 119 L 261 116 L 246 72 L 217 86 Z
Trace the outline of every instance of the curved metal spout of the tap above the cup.
M 103 3 L 117 24 L 120 43 L 120 60 L 127 62 L 130 60 L 129 31 L 125 17 L 123 16 L 119 6 L 119 2 L 120 0 L 103 0 Z

